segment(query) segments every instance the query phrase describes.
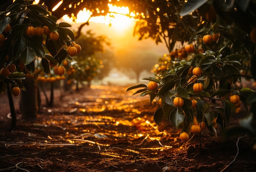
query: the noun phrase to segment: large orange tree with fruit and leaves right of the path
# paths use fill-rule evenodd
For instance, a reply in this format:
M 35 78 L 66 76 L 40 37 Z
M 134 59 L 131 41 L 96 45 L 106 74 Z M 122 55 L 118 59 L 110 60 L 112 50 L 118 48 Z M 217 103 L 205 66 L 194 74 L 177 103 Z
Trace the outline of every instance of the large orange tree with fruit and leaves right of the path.
M 214 135 L 217 135 L 217 126 L 220 126 L 222 131 L 227 131 L 225 126 L 241 102 L 248 112 L 247 104 L 255 102 L 256 93 L 250 88 L 243 87 L 241 77 L 255 79 L 255 69 L 251 66 L 255 64 L 256 57 L 256 15 L 252 9 L 256 4 L 254 1 L 247 2 L 244 4 L 238 1 L 188 0 L 184 4 L 179 11 L 180 16 L 176 17 L 183 19 L 186 16 L 194 16 L 200 18 L 200 22 L 196 23 L 198 27 L 191 32 L 188 39 L 178 35 L 179 38 L 174 40 L 183 45 L 193 44 L 195 50 L 193 49 L 194 52 L 190 54 L 192 58 L 178 62 L 174 61 L 177 59 L 169 58 L 171 60 L 166 63 L 169 64 L 168 70 L 156 73 L 156 77 L 144 78 L 158 84 L 155 90 L 150 90 L 144 84 L 127 89 L 141 88 L 135 94 L 150 95 L 151 101 L 155 97 L 162 100 L 162 106 L 154 114 L 157 125 L 160 125 L 162 120 L 169 119 L 177 129 L 181 128 L 181 133 L 190 134 L 191 129 L 199 133 L 193 125 L 201 126 L 203 122 Z M 185 25 L 187 22 L 189 21 L 180 20 L 177 26 Z M 171 23 L 171 20 L 168 20 L 167 25 L 170 26 Z M 199 53 L 198 50 L 201 49 L 203 52 Z M 189 53 L 191 52 L 190 50 Z M 184 104 L 177 106 L 177 97 L 182 99 Z M 251 112 L 251 120 L 241 122 L 242 127 L 228 130 L 226 134 L 249 132 L 255 136 L 254 108 Z M 187 137 L 180 139 L 187 140 Z

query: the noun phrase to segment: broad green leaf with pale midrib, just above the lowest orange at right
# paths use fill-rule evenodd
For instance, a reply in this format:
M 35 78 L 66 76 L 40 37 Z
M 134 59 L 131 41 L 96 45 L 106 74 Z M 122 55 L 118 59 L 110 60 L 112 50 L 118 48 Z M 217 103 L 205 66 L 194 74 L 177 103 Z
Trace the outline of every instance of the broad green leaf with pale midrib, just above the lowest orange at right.
M 173 109 L 169 116 L 169 120 L 171 121 L 173 126 L 176 127 L 176 129 L 178 129 L 180 124 L 183 123 L 184 118 L 185 118 L 185 115 L 183 113 L 183 110 L 182 108 L 179 108 L 179 107 Z

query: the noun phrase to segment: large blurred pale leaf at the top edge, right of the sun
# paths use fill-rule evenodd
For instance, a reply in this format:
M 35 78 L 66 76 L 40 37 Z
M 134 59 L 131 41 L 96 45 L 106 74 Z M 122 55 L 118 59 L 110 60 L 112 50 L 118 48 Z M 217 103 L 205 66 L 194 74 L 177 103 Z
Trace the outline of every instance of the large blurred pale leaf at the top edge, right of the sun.
M 201 7 L 205 2 L 207 2 L 207 0 L 188 0 L 188 2 L 185 3 L 182 11 L 180 11 L 180 16 L 188 15 L 193 10 Z

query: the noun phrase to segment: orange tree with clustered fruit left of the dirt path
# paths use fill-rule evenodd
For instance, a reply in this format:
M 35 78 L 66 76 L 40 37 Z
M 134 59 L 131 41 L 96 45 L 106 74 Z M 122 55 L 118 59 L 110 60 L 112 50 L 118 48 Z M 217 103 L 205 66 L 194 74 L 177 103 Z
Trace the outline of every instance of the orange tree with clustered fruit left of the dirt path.
M 18 86 L 23 90 L 26 89 L 26 93 L 32 92 L 31 95 L 36 95 L 35 89 L 29 88 L 34 80 L 25 79 L 25 73 L 35 73 L 36 58 L 40 59 L 47 74 L 50 73 L 49 62 L 58 65 L 65 58 L 72 60 L 66 50 L 75 39 L 74 33 L 67 29 L 71 25 L 56 22 L 57 18 L 47 10 L 46 6 L 33 4 L 32 0 L 16 0 L 0 13 L 0 33 L 4 35 L 0 47 L 0 68 L 7 68 L 10 64 L 16 65 L 16 72 L 8 76 L 0 76 L 1 92 L 7 88 L 9 93 L 9 84 L 11 84 L 11 88 Z M 46 50 L 51 55 L 45 55 Z M 20 79 L 24 81 L 21 82 Z M 29 101 L 23 100 L 21 110 L 25 110 L 26 105 L 36 109 L 35 99 L 31 96 L 27 98 Z M 15 113 L 13 109 L 11 106 L 12 115 Z M 15 126 L 15 122 L 12 126 Z

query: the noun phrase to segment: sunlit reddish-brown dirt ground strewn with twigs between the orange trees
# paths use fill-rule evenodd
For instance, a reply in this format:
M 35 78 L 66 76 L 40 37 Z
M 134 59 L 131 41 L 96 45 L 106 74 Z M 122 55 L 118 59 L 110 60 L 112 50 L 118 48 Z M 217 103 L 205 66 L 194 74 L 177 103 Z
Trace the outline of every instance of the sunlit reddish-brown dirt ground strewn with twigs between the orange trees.
M 204 130 L 183 142 L 180 130 L 168 120 L 164 121 L 166 130 L 158 132 L 153 121 L 157 107 L 150 104 L 149 97 L 132 96 L 126 88 L 92 86 L 65 93 L 61 101 L 55 90 L 54 107 L 43 106 L 42 113 L 31 121 L 21 119 L 19 97 L 15 97 L 15 130 L 10 128 L 7 95 L 0 95 L 0 171 L 256 170 L 253 138 L 237 136 L 223 141 L 218 128 L 218 137 Z M 232 115 L 227 128 L 237 125 L 244 115 L 243 110 Z

